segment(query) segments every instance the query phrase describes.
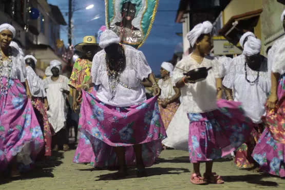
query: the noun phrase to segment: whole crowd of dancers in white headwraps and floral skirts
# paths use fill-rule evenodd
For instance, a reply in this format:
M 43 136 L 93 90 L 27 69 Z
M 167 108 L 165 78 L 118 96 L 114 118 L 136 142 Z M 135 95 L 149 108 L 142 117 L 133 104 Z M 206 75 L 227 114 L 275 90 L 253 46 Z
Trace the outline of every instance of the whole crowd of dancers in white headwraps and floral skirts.
M 163 62 L 158 81 L 143 52 L 105 26 L 99 43 L 86 36 L 74 47 L 83 56 L 70 79 L 53 60 L 42 80 L 36 58 L 12 42 L 15 29 L 0 25 L 0 172 L 18 176 L 52 151 L 69 149 L 71 94 L 80 131 L 75 163 L 118 168 L 116 178 L 136 166 L 137 176 L 146 177 L 145 167 L 170 147 L 188 151 L 193 184 L 224 183 L 212 168 L 227 155 L 238 167 L 285 177 L 284 38 L 265 58 L 261 41 L 246 32 L 241 55 L 213 58 L 212 29 L 205 21 L 189 31 L 193 52 L 176 66 Z M 145 87 L 155 96 L 147 98 Z

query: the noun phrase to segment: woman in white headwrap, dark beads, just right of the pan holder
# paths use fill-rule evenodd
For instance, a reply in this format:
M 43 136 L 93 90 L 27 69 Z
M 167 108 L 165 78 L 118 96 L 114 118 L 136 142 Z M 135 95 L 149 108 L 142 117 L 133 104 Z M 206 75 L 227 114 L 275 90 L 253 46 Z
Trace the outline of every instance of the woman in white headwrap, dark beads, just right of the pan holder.
M 254 123 L 251 139 L 241 145 L 236 152 L 238 167 L 257 167 L 252 151 L 262 134 L 265 103 L 270 92 L 270 70 L 267 58 L 260 55 L 261 41 L 252 32 L 246 32 L 240 39 L 243 53 L 234 58 L 223 80 L 227 100 L 239 101 L 246 116 Z M 232 89 L 234 92 L 232 93 Z M 233 96 L 234 94 L 234 96 Z

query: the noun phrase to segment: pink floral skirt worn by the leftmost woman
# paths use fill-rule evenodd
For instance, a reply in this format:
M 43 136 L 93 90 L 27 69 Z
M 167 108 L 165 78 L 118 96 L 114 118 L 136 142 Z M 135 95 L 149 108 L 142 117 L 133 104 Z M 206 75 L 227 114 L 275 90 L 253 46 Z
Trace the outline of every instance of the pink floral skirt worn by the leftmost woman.
M 6 86 L 6 78 L 3 83 Z M 19 80 L 10 80 L 10 84 L 8 94 L 0 94 L 0 170 L 18 154 L 18 162 L 30 165 L 44 147 L 43 132 L 24 85 Z

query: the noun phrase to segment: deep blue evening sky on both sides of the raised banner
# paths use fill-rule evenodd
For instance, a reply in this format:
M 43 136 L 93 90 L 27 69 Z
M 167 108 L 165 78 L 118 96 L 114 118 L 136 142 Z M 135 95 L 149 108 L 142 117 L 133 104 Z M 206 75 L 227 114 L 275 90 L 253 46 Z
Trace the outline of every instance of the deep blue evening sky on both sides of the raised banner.
M 105 3 L 104 0 L 73 0 L 75 9 L 94 4 L 89 10 L 75 11 L 72 17 L 74 21 L 73 45 L 81 43 L 86 35 L 94 35 L 102 25 L 105 25 Z M 49 4 L 57 5 L 61 9 L 65 21 L 68 22 L 68 0 L 48 0 Z M 164 61 L 172 59 L 175 47 L 182 42 L 182 37 L 176 35 L 182 32 L 182 24 L 176 24 L 176 11 L 179 0 L 160 0 L 158 12 L 150 34 L 139 49 L 141 50 L 153 71 L 158 74 L 160 65 Z M 172 11 L 159 11 L 172 10 Z M 95 16 L 100 16 L 97 20 L 92 20 Z M 61 27 L 61 39 L 67 45 L 67 26 Z

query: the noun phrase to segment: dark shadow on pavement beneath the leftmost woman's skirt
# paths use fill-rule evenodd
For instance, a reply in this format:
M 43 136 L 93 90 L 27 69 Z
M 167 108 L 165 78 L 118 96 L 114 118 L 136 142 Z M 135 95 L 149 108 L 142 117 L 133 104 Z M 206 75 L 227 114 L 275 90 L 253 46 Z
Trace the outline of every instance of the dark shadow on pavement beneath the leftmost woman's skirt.
M 0 175 L 0 185 L 5 183 L 10 183 L 16 180 L 27 180 L 27 179 L 36 179 L 36 178 L 53 178 L 54 175 L 52 171 L 54 167 L 61 165 L 63 162 L 62 152 L 53 152 L 49 161 L 37 161 L 32 166 L 33 169 L 29 170 L 28 172 L 22 173 L 21 176 L 18 177 L 9 177 L 9 172 Z

